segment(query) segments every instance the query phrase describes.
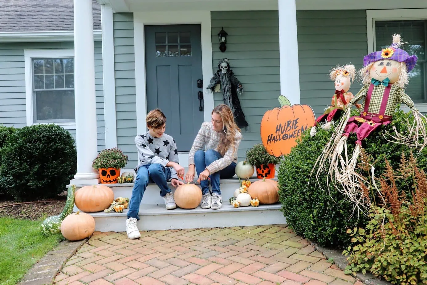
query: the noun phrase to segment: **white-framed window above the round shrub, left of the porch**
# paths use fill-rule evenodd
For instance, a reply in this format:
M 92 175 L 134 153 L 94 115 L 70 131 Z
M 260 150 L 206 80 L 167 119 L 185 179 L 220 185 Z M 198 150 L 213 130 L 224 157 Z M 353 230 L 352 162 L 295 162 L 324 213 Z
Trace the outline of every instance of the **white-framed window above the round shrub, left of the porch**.
M 27 125 L 75 126 L 73 50 L 26 50 Z

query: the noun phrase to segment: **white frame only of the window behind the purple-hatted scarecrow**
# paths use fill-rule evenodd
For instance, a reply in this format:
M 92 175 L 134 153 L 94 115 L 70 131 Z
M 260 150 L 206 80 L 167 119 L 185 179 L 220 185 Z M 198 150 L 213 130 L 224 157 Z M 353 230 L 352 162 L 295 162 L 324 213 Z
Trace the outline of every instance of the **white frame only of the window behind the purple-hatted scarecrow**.
M 389 9 L 366 10 L 366 30 L 368 35 L 368 54 L 376 50 L 375 47 L 375 21 L 401 21 L 401 20 L 427 20 L 427 9 Z M 391 42 L 390 37 L 390 42 Z M 405 39 L 403 39 L 405 41 Z M 427 40 L 427 39 L 426 39 Z M 406 39 L 410 41 L 410 39 Z M 420 112 L 427 112 L 427 103 L 417 103 Z M 409 112 L 406 104 L 401 104 L 404 112 Z

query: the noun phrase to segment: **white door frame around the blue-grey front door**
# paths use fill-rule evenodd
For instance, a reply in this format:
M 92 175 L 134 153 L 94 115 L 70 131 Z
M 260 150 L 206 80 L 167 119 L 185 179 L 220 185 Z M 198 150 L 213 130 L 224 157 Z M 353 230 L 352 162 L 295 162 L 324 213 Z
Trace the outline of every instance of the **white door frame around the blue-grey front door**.
M 135 41 L 135 89 L 137 133 L 146 132 L 146 76 L 145 76 L 145 35 L 146 25 L 170 24 L 200 24 L 202 39 L 202 73 L 203 73 L 203 108 L 204 119 L 211 120 L 213 109 L 213 93 L 206 90 L 212 77 L 212 37 L 210 11 L 165 11 L 165 12 L 135 12 L 134 41 Z M 139 111 L 140 110 L 140 111 Z

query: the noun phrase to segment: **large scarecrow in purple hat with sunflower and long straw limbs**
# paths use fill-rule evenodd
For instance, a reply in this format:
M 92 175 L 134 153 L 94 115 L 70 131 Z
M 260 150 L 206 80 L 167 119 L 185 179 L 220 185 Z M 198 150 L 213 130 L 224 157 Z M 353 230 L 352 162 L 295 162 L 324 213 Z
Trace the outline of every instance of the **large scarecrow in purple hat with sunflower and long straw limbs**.
M 325 169 L 325 161 L 330 163 L 328 174 L 334 182 L 339 182 L 344 188 L 344 194 L 351 200 L 358 200 L 360 180 L 362 177 L 355 172 L 357 159 L 362 147 L 362 141 L 378 127 L 389 124 L 399 103 L 405 103 L 412 111 L 414 124 L 408 126 L 407 133 L 398 133 L 392 138 L 395 142 L 405 143 L 420 151 L 427 144 L 426 129 L 423 120 L 426 118 L 415 108 L 414 102 L 404 92 L 409 82 L 408 73 L 414 68 L 417 56 L 409 55 L 399 48 L 402 45 L 401 35 L 393 35 L 393 43 L 383 50 L 370 53 L 363 59 L 363 68 L 359 76 L 364 86 L 346 106 L 341 121 L 336 126 L 322 155 L 317 177 Z M 350 118 L 351 106 L 359 100 L 363 103 L 359 116 Z M 347 153 L 347 138 L 357 135 L 353 156 L 342 157 L 342 151 Z M 316 162 L 316 164 L 317 164 Z

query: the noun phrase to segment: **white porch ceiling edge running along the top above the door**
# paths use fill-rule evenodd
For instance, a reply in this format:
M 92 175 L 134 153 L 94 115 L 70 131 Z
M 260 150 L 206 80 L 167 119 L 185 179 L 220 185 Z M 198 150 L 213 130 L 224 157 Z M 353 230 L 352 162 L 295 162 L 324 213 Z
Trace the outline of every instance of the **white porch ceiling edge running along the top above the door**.
M 277 10 L 278 1 L 286 0 L 97 0 L 110 4 L 114 12 L 150 11 L 233 11 Z M 384 4 L 386 3 L 386 5 Z M 421 0 L 296 0 L 297 10 L 351 10 L 351 9 L 413 9 L 427 8 Z

